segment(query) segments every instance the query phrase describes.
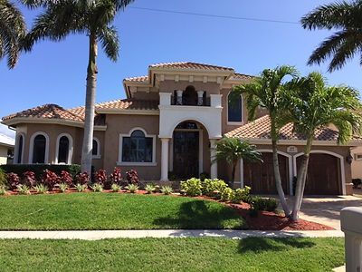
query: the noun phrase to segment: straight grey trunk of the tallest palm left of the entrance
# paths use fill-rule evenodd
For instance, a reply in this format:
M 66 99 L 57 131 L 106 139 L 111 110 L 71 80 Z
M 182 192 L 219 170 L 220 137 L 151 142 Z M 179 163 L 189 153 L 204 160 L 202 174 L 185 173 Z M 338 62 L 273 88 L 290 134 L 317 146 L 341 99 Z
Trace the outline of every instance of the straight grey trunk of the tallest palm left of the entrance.
M 93 129 L 94 129 L 94 103 L 96 99 L 96 83 L 97 83 L 97 38 L 95 34 L 90 34 L 90 54 L 87 69 L 87 89 L 85 96 L 85 120 L 84 120 L 84 136 L 81 150 L 81 171 L 90 174 L 91 157 L 93 145 Z

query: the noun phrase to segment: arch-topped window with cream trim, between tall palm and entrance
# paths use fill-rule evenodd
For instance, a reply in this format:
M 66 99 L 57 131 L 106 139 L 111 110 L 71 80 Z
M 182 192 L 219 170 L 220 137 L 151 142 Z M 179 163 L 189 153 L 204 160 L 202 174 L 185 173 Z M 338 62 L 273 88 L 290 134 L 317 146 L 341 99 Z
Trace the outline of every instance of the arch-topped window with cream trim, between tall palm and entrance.
M 142 129 L 119 135 L 119 165 L 156 165 L 156 136 Z

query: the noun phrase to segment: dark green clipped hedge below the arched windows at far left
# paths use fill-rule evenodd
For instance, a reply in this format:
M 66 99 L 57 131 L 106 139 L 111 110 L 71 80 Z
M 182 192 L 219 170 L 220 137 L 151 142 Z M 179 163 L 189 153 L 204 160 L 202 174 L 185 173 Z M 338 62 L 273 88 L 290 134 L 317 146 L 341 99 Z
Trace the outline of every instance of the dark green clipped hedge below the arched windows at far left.
M 0 169 L 4 170 L 5 173 L 15 173 L 19 177 L 23 176 L 23 173 L 26 171 L 33 171 L 35 173 L 35 178 L 38 180 L 41 179 L 44 170 L 51 170 L 56 174 L 60 175 L 62 170 L 70 172 L 71 176 L 74 178 L 77 174 L 81 172 L 81 165 L 78 164 L 5 164 L 0 165 Z

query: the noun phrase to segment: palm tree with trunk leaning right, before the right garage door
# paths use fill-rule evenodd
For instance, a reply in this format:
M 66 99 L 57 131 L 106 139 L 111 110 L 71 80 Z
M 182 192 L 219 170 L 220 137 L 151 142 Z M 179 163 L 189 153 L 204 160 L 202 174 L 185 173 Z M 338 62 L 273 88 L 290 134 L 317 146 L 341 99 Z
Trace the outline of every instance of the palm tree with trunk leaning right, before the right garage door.
M 320 73 L 310 73 L 290 84 L 293 92 L 286 89 L 283 94 L 290 110 L 283 118 L 291 121 L 294 131 L 306 139 L 292 211 L 292 219 L 298 220 L 315 131 L 332 124 L 339 131 L 338 144 L 346 143 L 355 133 L 361 132 L 362 104 L 356 90 L 343 85 L 328 86 Z

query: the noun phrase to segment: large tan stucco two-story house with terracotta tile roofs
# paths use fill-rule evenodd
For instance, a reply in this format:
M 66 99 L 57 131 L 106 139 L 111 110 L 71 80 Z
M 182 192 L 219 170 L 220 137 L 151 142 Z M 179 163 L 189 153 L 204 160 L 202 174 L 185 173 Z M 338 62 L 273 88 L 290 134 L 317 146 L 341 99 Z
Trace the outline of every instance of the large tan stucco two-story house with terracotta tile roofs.
M 272 174 L 270 121 L 258 112 L 247 122 L 243 97 L 230 104 L 234 85 L 249 83 L 252 76 L 233 68 L 201 63 L 160 63 L 148 75 L 123 81 L 127 99 L 96 104 L 93 165 L 110 172 L 119 166 L 136 169 L 142 180 L 169 180 L 199 176 L 229 180 L 230 167 L 211 163 L 214 146 L 224 135 L 257 145 L 262 164 L 240 163 L 234 187 L 250 185 L 256 193 L 275 193 Z M 15 163 L 80 163 L 84 107 L 63 109 L 46 104 L 6 116 L 3 123 L 16 128 Z M 307 194 L 350 193 L 349 148 L 362 144 L 355 138 L 337 145 L 338 131 L 316 133 L 311 151 Z M 305 141 L 281 130 L 281 179 L 292 192 Z M 171 175 L 170 175 L 171 176 Z

